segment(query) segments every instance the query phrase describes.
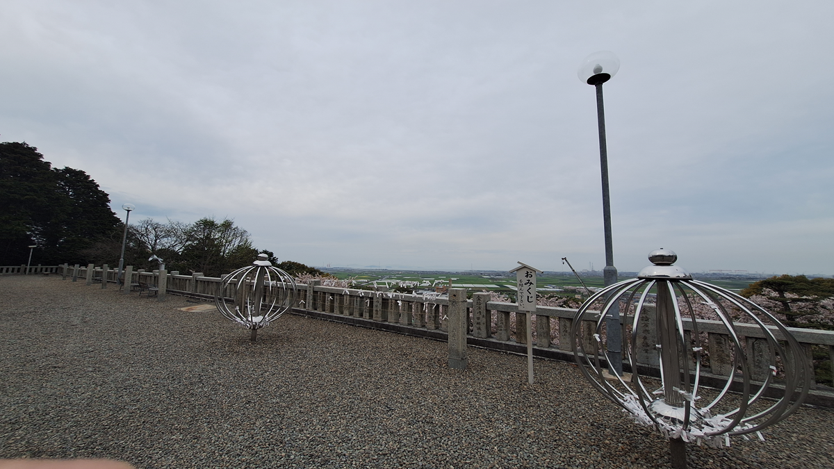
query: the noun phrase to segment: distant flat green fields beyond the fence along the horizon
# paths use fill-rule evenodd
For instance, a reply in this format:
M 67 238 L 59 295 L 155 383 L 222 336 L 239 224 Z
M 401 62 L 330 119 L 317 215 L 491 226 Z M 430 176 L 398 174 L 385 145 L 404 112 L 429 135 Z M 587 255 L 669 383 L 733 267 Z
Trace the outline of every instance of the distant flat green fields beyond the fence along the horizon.
M 420 283 L 429 283 L 430 285 L 449 285 L 451 280 L 453 287 L 467 288 L 470 290 L 511 290 L 515 285 L 514 274 L 503 274 L 500 272 L 437 272 L 437 271 L 414 271 L 414 270 L 341 270 L 341 269 L 323 269 L 339 279 L 353 278 L 363 283 L 378 283 L 382 282 L 399 282 L 399 281 L 415 281 Z M 589 287 L 602 287 L 603 280 L 601 276 L 584 276 L 580 278 Z M 627 280 L 634 278 L 632 276 L 620 276 L 620 280 Z M 536 277 L 536 289 L 540 293 L 547 291 L 556 291 L 565 286 L 580 287 L 579 280 L 576 280 L 575 275 L 572 274 L 552 274 L 545 273 L 545 275 L 538 275 Z M 755 280 L 706 280 L 709 283 L 738 292 L 743 290 Z

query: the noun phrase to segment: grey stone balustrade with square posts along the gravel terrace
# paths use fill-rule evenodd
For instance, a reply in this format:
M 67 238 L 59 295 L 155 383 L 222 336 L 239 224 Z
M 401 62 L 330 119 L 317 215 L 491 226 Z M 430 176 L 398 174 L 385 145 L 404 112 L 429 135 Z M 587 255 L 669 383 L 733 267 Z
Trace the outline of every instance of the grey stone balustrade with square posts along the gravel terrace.
M 88 267 L 81 266 L 57 266 L 57 273 L 72 275 L 73 279 L 87 275 Z M 125 270 L 128 275 L 129 270 Z M 159 280 L 159 272 L 148 272 L 144 270 L 129 271 L 132 282 L 142 281 L 149 285 L 158 285 L 166 288 L 169 294 L 189 295 L 203 299 L 213 299 L 218 293 L 221 279 L 206 277 L 201 273 L 193 275 L 179 275 L 173 271 L 164 274 L 162 282 Z M 164 272 L 164 271 L 163 271 Z M 99 277 L 103 275 L 111 282 L 116 281 L 118 272 L 93 267 L 93 274 Z M 64 277 L 66 278 L 66 277 Z M 88 279 L 91 278 L 88 276 Z M 355 290 L 342 287 L 320 285 L 320 280 L 310 282 L 310 285 L 300 284 L 299 294 L 296 297 L 294 314 L 309 315 L 327 320 L 337 320 L 353 325 L 369 327 L 380 330 L 393 330 L 402 334 L 418 335 L 437 340 L 448 340 L 447 322 L 449 319 L 449 300 L 435 295 L 409 295 L 379 290 Z M 230 287 L 229 287 L 230 288 Z M 231 297 L 232 291 L 224 292 L 224 295 Z M 653 308 L 653 305 L 646 305 Z M 526 337 L 524 315 L 516 314 L 517 307 L 511 303 L 500 303 L 490 301 L 490 294 L 475 293 L 471 300 L 465 304 L 465 316 L 467 325 L 466 342 L 493 350 L 503 350 L 511 353 L 525 354 L 527 340 L 534 340 L 534 355 L 542 358 L 549 358 L 562 361 L 573 361 L 573 352 L 570 345 L 570 329 L 576 314 L 576 310 L 570 308 L 555 308 L 550 306 L 539 306 L 532 313 L 535 324 L 534 337 Z M 582 340 L 585 343 L 585 350 L 595 350 L 595 339 L 593 330 L 595 321 L 598 319 L 598 312 L 590 311 L 583 318 L 581 330 Z M 653 316 L 649 314 L 649 316 Z M 628 318 L 631 325 L 631 316 Z M 683 320 L 684 329 L 691 330 L 691 320 Z M 710 386 L 709 376 L 716 376 L 716 383 L 723 384 L 721 376 L 729 376 L 732 371 L 731 361 L 731 340 L 726 334 L 726 329 L 720 321 L 699 320 L 698 328 L 701 335 L 706 334 L 706 351 L 709 357 L 706 366 L 709 373 L 706 373 L 705 386 Z M 756 325 L 736 324 L 736 330 L 742 336 L 742 342 L 746 346 L 748 354 L 752 354 L 754 362 L 756 354 L 766 350 L 763 341 L 766 340 L 763 332 Z M 772 328 L 776 339 L 781 334 Z M 834 363 L 834 331 L 810 330 L 789 328 L 791 334 L 800 342 L 806 353 L 807 361 L 811 366 L 812 347 L 827 351 L 831 362 Z M 636 350 L 636 363 L 641 367 L 641 374 L 655 374 L 659 376 L 659 364 L 657 363 L 656 340 L 650 335 L 639 337 L 639 350 Z M 605 356 L 600 355 L 600 361 L 605 361 Z M 765 363 L 766 361 L 761 361 Z M 631 371 L 631 366 L 624 363 L 625 371 Z M 760 369 L 752 371 L 754 380 L 761 380 L 764 374 L 770 370 L 762 365 Z M 778 385 L 775 385 L 778 386 Z M 834 391 L 827 386 L 812 386 L 811 395 L 806 403 L 817 406 L 834 407 Z

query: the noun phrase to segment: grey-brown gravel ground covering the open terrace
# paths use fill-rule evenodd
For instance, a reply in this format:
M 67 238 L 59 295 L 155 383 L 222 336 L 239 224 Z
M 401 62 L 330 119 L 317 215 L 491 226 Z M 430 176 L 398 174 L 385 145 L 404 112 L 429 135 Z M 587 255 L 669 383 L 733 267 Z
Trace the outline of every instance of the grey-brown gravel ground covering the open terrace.
M 284 315 L 258 341 L 219 313 L 60 276 L 0 277 L 0 458 L 138 467 L 668 467 L 668 446 L 575 365 Z M 696 467 L 834 466 L 802 408 Z

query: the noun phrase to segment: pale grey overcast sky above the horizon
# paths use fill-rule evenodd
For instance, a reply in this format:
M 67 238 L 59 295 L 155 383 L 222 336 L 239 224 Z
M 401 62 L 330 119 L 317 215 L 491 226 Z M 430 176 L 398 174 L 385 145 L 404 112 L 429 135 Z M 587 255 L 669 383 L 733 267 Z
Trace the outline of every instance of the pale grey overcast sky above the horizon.
M 308 265 L 834 274 L 834 3 L 0 3 L 0 141 Z

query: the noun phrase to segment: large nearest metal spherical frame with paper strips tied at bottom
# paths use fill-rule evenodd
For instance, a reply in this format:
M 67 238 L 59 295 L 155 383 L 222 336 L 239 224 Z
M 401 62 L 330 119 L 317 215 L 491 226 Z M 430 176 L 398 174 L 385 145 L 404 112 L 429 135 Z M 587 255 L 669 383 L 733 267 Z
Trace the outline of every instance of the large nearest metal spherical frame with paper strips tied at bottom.
M 657 271 L 658 267 L 661 267 L 661 272 Z M 671 278 L 664 275 L 663 266 L 647 267 L 644 272 L 648 271 L 649 275 L 610 285 L 591 296 L 577 311 L 571 329 L 574 356 L 585 378 L 597 391 L 622 406 L 637 423 L 654 426 L 667 438 L 680 438 L 699 444 L 704 441 L 711 446 L 729 445 L 729 436 L 760 431 L 786 418 L 801 406 L 812 375 L 810 366 L 801 358 L 805 353 L 787 328 L 751 300 L 730 290 L 692 280 L 680 268 L 669 268 L 672 274 L 679 271 L 683 275 L 676 275 L 681 278 Z M 655 311 L 651 311 L 649 301 L 652 293 L 656 295 Z M 693 300 L 698 301 L 697 305 L 703 305 L 699 309 L 701 318 L 705 310 L 711 310 L 717 320 L 696 317 Z M 596 306 L 600 312 L 591 311 L 591 306 Z M 631 380 L 627 377 L 624 380 L 622 376 L 614 381 L 606 379 L 605 367 L 600 364 L 605 356 L 605 353 L 600 354 L 600 349 L 605 348 L 605 340 L 600 339 L 605 334 L 605 316 L 615 308 L 625 309 L 621 314 L 622 342 L 627 362 L 634 372 Z M 632 315 L 629 315 L 630 312 Z M 736 320 L 741 319 L 740 315 L 747 318 L 751 322 L 744 326 L 757 326 L 761 331 L 757 335 L 766 340 L 767 350 L 758 356 L 760 360 L 761 357 L 766 358 L 771 372 L 767 373 L 763 381 L 751 380 L 752 357 L 748 356 L 748 350 L 741 344 L 743 334 L 738 330 L 739 325 L 734 324 L 732 315 L 736 315 Z M 581 325 L 582 319 L 588 320 L 589 316 L 595 320 L 595 330 L 592 334 L 585 330 L 583 340 L 582 332 L 585 328 Z M 651 325 L 652 319 L 656 319 L 656 326 Z M 688 323 L 686 325 L 689 330 L 685 329 L 685 323 Z M 646 364 L 637 362 L 639 341 L 646 340 L 646 332 L 650 328 L 656 330 L 656 350 L 660 356 L 662 386 L 656 391 L 646 387 L 647 384 L 651 386 L 647 383 L 651 378 L 644 378 L 638 373 L 646 370 Z M 700 386 L 701 376 L 705 373 L 701 368 L 701 359 L 706 350 L 701 340 L 704 329 L 711 333 L 722 329 L 719 333 L 730 338 L 733 358 L 725 386 L 720 391 L 707 391 L 716 392 L 716 396 L 708 404 L 698 406 L 702 391 L 706 391 Z M 750 334 L 748 330 L 747 335 Z M 586 350 L 583 342 L 590 342 L 593 350 Z M 761 366 L 761 362 L 758 365 Z M 780 383 L 784 385 L 784 394 L 775 403 L 768 405 L 770 402 L 762 401 L 761 398 L 774 380 L 777 370 L 784 373 L 784 382 Z M 730 392 L 734 382 L 741 385 L 740 395 Z M 791 405 L 793 396 L 798 398 Z M 734 409 L 731 408 L 733 406 Z M 753 412 L 752 415 L 746 416 L 749 411 Z M 758 436 L 761 437 L 761 433 Z

